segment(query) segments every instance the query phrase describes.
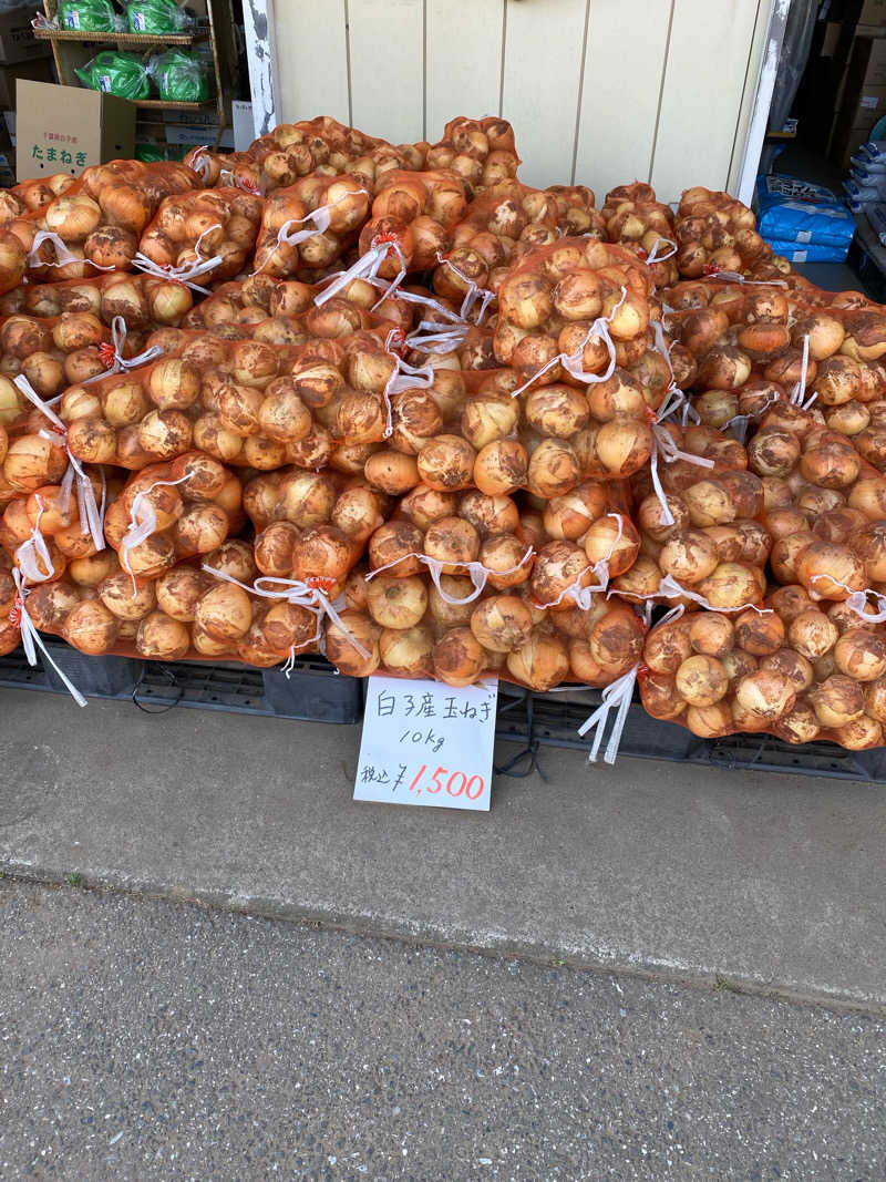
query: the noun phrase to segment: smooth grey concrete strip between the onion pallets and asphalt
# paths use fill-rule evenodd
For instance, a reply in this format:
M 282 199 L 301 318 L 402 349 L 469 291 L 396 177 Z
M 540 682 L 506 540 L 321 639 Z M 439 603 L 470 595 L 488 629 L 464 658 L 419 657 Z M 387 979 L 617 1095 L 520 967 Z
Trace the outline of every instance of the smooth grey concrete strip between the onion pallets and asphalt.
M 0 870 L 886 1002 L 886 793 L 542 752 L 490 813 L 354 804 L 359 727 L 0 691 Z M 513 754 L 513 747 L 501 754 Z

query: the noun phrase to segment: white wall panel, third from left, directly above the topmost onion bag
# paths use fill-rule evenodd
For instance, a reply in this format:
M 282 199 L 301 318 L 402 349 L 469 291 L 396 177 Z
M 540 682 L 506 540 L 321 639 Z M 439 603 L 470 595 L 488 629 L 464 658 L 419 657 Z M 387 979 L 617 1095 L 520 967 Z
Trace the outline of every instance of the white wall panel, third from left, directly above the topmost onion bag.
M 442 138 L 454 115 L 499 113 L 507 0 L 426 0 L 426 128 Z

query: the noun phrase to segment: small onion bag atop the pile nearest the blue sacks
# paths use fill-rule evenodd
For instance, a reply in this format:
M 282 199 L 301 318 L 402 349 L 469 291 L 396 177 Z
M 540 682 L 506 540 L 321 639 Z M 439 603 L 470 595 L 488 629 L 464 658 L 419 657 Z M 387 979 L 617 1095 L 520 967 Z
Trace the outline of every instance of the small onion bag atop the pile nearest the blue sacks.
M 727 193 L 701 186 L 684 191 L 673 230 L 677 267 L 686 279 L 718 271 L 743 274 L 773 253 L 756 232 L 753 210 Z

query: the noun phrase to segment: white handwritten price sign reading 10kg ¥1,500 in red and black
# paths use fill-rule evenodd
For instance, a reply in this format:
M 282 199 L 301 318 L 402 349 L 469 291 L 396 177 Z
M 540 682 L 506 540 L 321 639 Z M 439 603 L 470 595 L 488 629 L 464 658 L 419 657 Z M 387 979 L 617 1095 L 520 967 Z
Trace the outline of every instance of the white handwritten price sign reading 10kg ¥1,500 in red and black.
M 354 800 L 489 811 L 499 682 L 369 678 Z

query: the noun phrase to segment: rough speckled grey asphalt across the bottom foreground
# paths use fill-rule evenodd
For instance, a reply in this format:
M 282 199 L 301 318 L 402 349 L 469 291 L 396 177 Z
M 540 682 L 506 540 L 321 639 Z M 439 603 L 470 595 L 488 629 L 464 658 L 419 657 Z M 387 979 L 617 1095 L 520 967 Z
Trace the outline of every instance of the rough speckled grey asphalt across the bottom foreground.
M 881 1019 L 0 882 L 0 1176 L 879 1180 Z

